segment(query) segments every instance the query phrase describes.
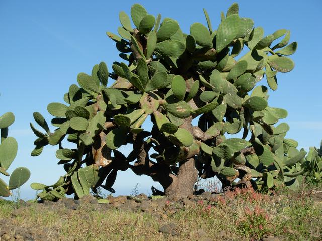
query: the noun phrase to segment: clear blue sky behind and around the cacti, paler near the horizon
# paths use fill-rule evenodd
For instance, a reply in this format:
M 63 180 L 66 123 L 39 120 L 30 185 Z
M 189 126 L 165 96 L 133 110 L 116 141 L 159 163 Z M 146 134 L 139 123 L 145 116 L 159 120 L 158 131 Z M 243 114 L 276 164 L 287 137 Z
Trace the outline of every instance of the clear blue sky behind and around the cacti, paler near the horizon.
M 220 12 L 235 1 L 140 1 L 150 14 L 162 14 L 177 20 L 185 33 L 190 25 L 206 25 L 203 8 L 213 28 L 220 23 Z M 118 13 L 130 13 L 136 1 L 0 1 L 0 115 L 12 111 L 16 122 L 10 136 L 19 143 L 18 166 L 31 170 L 31 178 L 22 187 L 22 198 L 33 198 L 31 182 L 53 184 L 64 175 L 57 165 L 56 147 L 46 146 L 39 157 L 31 157 L 35 136 L 29 122 L 32 113 L 42 113 L 50 123 L 47 105 L 63 102 L 63 94 L 76 83 L 79 72 L 91 73 L 92 67 L 105 61 L 110 67 L 120 60 L 115 44 L 105 32 L 117 33 Z M 310 1 L 239 1 L 240 16 L 252 18 L 262 26 L 265 35 L 285 28 L 291 31 L 291 42 L 298 42 L 291 56 L 295 68 L 278 74 L 278 90 L 270 91 L 269 105 L 288 110 L 290 125 L 287 137 L 296 139 L 300 147 L 317 146 L 322 139 L 322 2 Z M 111 69 L 111 67 L 110 67 Z M 263 84 L 266 81 L 263 81 Z M 52 128 L 53 130 L 53 128 Z M 123 152 L 128 150 L 123 149 Z M 3 177 L 1 177 L 3 178 Z M 8 181 L 8 179 L 3 178 Z M 124 172 L 115 183 L 116 194 L 129 194 L 139 183 L 147 193 L 153 184 L 149 177 Z M 153 184 L 154 185 L 154 184 Z M 158 186 L 158 185 L 156 185 Z

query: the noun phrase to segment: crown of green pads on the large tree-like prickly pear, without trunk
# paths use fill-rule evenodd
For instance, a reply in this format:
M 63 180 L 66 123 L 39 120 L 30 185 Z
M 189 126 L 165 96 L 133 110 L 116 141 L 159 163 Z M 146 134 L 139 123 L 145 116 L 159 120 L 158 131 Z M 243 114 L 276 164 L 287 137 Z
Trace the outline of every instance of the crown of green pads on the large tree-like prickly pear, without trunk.
M 264 36 L 253 20 L 239 16 L 237 4 L 222 14 L 217 30 L 204 13 L 207 27 L 194 23 L 187 34 L 176 20 L 155 18 L 139 4 L 131 7 L 134 26 L 120 13 L 119 35 L 107 36 L 124 62 L 114 62 L 111 72 L 101 62 L 92 73 L 80 73 L 65 103 L 48 105 L 53 132 L 34 113 L 45 133 L 31 124 L 38 137 L 31 154 L 58 145 L 58 164 L 66 170 L 54 185 L 32 184 L 43 190 L 41 199 L 82 197 L 98 186 L 113 192 L 118 171 L 128 168 L 154 180 L 162 175 L 160 167 L 176 176 L 191 158 L 200 177 L 217 176 L 225 186 L 298 187 L 305 152 L 284 138 L 289 127 L 277 123 L 287 112 L 268 105 L 268 88 L 259 83 L 266 77 L 270 89 L 277 89 L 277 75 L 294 68 L 286 56 L 296 42 L 288 45 L 284 29 Z M 249 51 L 239 56 L 244 49 Z M 143 130 L 147 121 L 152 128 Z M 242 138 L 225 137 L 239 132 Z M 75 148 L 64 148 L 65 139 Z M 126 144 L 133 145 L 128 156 L 117 150 Z

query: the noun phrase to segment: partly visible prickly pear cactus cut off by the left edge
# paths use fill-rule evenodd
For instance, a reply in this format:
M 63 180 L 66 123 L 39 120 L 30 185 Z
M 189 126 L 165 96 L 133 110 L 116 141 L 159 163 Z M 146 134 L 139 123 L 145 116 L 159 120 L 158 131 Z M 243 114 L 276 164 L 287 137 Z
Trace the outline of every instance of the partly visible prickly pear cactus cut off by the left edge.
M 8 177 L 10 176 L 8 185 L 0 178 L 0 196 L 2 197 L 9 197 L 11 194 L 10 190 L 22 186 L 30 177 L 30 171 L 25 167 L 16 168 L 11 175 L 7 172 L 7 169 L 14 161 L 18 150 L 16 139 L 8 137 L 9 126 L 13 124 L 14 121 L 15 115 L 11 112 L 7 112 L 0 116 L 0 173 Z

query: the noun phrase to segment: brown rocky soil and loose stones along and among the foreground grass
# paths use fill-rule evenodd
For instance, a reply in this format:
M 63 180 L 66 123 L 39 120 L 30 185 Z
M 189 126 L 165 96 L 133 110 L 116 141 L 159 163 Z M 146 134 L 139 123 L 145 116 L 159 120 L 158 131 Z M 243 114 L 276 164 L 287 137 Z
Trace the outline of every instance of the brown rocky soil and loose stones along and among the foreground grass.
M 211 208 L 211 205 L 218 200 L 218 197 L 222 194 L 203 192 L 200 195 L 195 195 L 192 198 L 183 198 L 175 200 L 169 197 L 155 196 L 153 198 L 147 197 L 145 194 L 139 194 L 137 196 L 108 196 L 105 200 L 106 203 L 99 203 L 93 196 L 85 196 L 79 200 L 62 199 L 57 202 L 45 201 L 43 203 L 32 203 L 20 201 L 19 208 L 12 211 L 11 217 L 0 220 L 0 240 L 28 240 L 28 241 L 40 241 L 48 240 L 48 235 L 53 238 L 57 236 L 60 230 L 43 228 L 43 227 L 20 227 L 15 225 L 15 218 L 18 218 L 24 212 L 27 212 L 30 207 L 33 207 L 35 212 L 55 211 L 61 218 L 68 218 L 70 215 L 79 213 L 79 219 L 88 219 L 87 211 L 92 212 L 104 212 L 109 209 L 117 209 L 120 211 L 128 212 L 144 212 L 149 213 L 156 218 L 163 218 L 169 216 L 178 210 L 193 208 L 197 205 L 203 205 L 206 208 Z M 281 196 L 287 198 L 286 196 Z M 316 192 L 314 194 L 314 200 L 316 202 L 322 201 L 322 192 Z M 27 228 L 26 228 L 27 227 Z M 159 226 L 159 233 L 167 235 L 168 237 L 175 237 L 179 233 L 179 227 L 176 223 L 163 223 Z M 207 230 L 202 228 L 191 230 L 188 236 L 189 240 L 230 240 L 229 234 L 226 231 L 218 232 L 218 239 L 209 238 Z M 284 240 L 272 235 L 266 235 L 261 240 L 265 241 L 278 241 Z

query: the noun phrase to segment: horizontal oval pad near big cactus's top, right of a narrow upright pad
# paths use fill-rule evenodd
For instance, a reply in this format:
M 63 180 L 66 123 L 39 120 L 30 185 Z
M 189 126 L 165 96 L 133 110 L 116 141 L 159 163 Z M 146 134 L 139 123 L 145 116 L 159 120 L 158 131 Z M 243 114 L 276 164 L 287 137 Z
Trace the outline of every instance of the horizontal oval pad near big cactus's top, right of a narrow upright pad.
M 179 57 L 185 52 L 186 46 L 178 40 L 165 40 L 156 44 L 155 50 L 168 57 Z

